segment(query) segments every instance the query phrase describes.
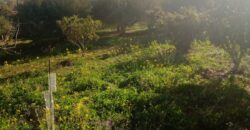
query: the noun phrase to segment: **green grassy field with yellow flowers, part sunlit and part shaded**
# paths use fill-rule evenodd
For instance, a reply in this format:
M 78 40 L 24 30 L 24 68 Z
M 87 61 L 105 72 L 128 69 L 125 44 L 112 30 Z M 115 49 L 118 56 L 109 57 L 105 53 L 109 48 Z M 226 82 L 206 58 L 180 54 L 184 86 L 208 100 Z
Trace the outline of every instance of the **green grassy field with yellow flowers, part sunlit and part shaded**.
M 57 129 L 250 128 L 249 56 L 243 73 L 231 76 L 229 55 L 209 41 L 179 56 L 174 43 L 152 39 L 104 37 L 84 54 L 69 43 L 42 42 L 54 46 L 51 56 L 29 44 L 21 56 L 2 56 L 0 129 L 46 129 L 49 59 Z

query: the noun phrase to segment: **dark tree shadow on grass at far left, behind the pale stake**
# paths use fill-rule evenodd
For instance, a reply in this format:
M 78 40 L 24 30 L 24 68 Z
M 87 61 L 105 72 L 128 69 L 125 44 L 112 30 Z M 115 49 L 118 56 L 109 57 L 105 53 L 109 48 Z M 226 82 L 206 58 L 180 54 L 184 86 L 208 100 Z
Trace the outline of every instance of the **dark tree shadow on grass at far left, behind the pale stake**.
M 50 50 L 51 48 L 51 50 Z M 48 57 L 65 53 L 66 49 L 76 50 L 76 47 L 65 40 L 60 39 L 37 39 L 28 44 L 18 44 L 13 51 L 14 54 L 0 55 L 0 65 L 5 61 L 11 63 L 18 59 L 28 61 L 36 57 Z

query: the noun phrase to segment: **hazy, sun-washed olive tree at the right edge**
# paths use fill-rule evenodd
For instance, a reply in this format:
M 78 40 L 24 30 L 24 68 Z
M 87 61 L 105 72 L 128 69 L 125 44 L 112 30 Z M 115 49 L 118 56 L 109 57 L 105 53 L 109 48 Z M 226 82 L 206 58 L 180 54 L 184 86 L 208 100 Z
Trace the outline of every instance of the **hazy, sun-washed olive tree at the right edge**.
M 218 0 L 210 12 L 210 39 L 230 54 L 232 74 L 239 73 L 242 58 L 250 48 L 249 6 L 248 0 Z

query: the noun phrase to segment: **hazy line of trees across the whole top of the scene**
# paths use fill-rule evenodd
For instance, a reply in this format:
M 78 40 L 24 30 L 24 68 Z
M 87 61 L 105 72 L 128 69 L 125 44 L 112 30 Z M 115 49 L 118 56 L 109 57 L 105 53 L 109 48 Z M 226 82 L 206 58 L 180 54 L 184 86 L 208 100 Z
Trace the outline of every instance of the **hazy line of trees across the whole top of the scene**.
M 20 38 L 66 36 L 83 48 L 83 43 L 97 38 L 95 32 L 100 21 L 116 27 L 120 34 L 135 23 L 146 23 L 150 32 L 164 34 L 182 51 L 187 51 L 193 40 L 211 40 L 230 53 L 233 71 L 237 71 L 250 46 L 248 0 L 0 0 L 0 3 L 0 46 L 14 38 L 20 23 Z

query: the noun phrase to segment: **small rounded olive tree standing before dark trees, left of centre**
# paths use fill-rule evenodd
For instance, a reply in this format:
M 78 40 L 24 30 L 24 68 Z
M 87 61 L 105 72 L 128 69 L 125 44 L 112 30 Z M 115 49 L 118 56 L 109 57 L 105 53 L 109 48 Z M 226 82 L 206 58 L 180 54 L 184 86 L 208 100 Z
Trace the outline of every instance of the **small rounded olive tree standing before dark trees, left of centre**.
M 62 18 L 58 21 L 58 25 L 67 40 L 84 51 L 87 43 L 99 38 L 96 32 L 102 23 L 99 20 L 93 20 L 91 17 L 71 16 Z

